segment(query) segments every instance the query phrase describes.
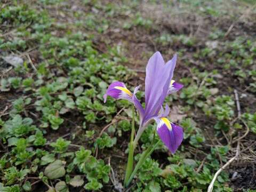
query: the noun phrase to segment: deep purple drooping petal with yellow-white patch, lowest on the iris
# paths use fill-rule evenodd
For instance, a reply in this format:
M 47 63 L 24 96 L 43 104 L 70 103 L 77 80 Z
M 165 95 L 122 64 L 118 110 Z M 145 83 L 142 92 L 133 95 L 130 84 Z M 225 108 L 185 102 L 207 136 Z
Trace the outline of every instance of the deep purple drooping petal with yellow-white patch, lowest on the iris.
M 183 140 L 183 129 L 171 123 L 167 118 L 155 118 L 157 122 L 157 133 L 164 145 L 171 151 L 172 154 L 180 146 Z

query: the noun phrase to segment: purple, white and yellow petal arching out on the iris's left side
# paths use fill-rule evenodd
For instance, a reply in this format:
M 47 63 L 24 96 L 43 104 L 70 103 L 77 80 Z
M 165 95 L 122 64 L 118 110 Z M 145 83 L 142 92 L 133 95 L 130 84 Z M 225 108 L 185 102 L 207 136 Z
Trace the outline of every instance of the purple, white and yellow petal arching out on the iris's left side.
M 115 99 L 126 99 L 132 102 L 133 94 L 129 91 L 123 82 L 113 82 L 109 85 L 106 94 L 103 95 L 104 102 L 107 101 L 107 96 Z

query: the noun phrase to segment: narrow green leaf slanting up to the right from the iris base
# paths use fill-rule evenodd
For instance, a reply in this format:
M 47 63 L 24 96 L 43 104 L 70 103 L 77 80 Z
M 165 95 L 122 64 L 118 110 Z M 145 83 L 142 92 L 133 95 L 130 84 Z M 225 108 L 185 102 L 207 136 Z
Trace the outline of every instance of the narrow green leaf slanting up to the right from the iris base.
M 141 165 L 145 162 L 145 160 L 151 155 L 151 153 L 153 153 L 153 151 L 155 150 L 155 148 L 157 147 L 159 142 L 161 142 L 161 140 L 158 140 L 157 143 L 153 147 L 151 147 L 151 145 L 150 145 L 149 148 L 142 153 L 142 155 L 140 156 L 139 162 L 135 166 L 129 180 L 127 182 L 125 182 L 125 184 L 126 184 L 125 187 L 129 186 L 129 184 L 132 181 L 134 175 L 140 169 Z

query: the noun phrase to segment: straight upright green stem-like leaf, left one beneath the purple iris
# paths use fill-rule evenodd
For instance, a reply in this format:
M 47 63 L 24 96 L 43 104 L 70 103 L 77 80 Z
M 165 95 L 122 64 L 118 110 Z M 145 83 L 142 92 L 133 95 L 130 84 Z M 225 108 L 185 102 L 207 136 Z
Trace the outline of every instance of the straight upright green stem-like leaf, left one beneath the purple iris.
M 124 185 L 126 185 L 128 179 L 130 178 L 130 175 L 133 170 L 133 155 L 134 155 L 134 149 L 136 148 L 137 144 L 133 142 L 134 132 L 135 132 L 135 115 L 134 115 L 134 108 L 132 109 L 132 131 L 131 131 L 131 140 L 129 143 L 129 155 L 128 155 L 128 161 L 125 171 L 125 179 L 124 179 Z

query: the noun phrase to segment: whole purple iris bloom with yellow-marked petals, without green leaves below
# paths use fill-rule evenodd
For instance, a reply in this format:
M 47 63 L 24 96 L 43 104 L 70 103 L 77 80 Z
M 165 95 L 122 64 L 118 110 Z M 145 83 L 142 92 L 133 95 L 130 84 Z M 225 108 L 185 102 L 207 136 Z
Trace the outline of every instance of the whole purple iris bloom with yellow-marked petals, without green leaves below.
M 123 82 L 113 82 L 109 85 L 107 92 L 103 95 L 104 102 L 107 96 L 115 99 L 125 99 L 134 104 L 140 115 L 140 127 L 134 142 L 137 143 L 142 132 L 151 121 L 157 124 L 157 133 L 165 146 L 175 153 L 183 140 L 183 130 L 167 119 L 170 113 L 168 105 L 163 108 L 163 102 L 167 95 L 179 91 L 183 85 L 172 80 L 173 71 L 176 65 L 177 55 L 168 61 L 164 59 L 160 52 L 156 52 L 149 59 L 146 67 L 145 80 L 145 108 L 136 97 L 139 91 L 137 86 L 132 93 Z

